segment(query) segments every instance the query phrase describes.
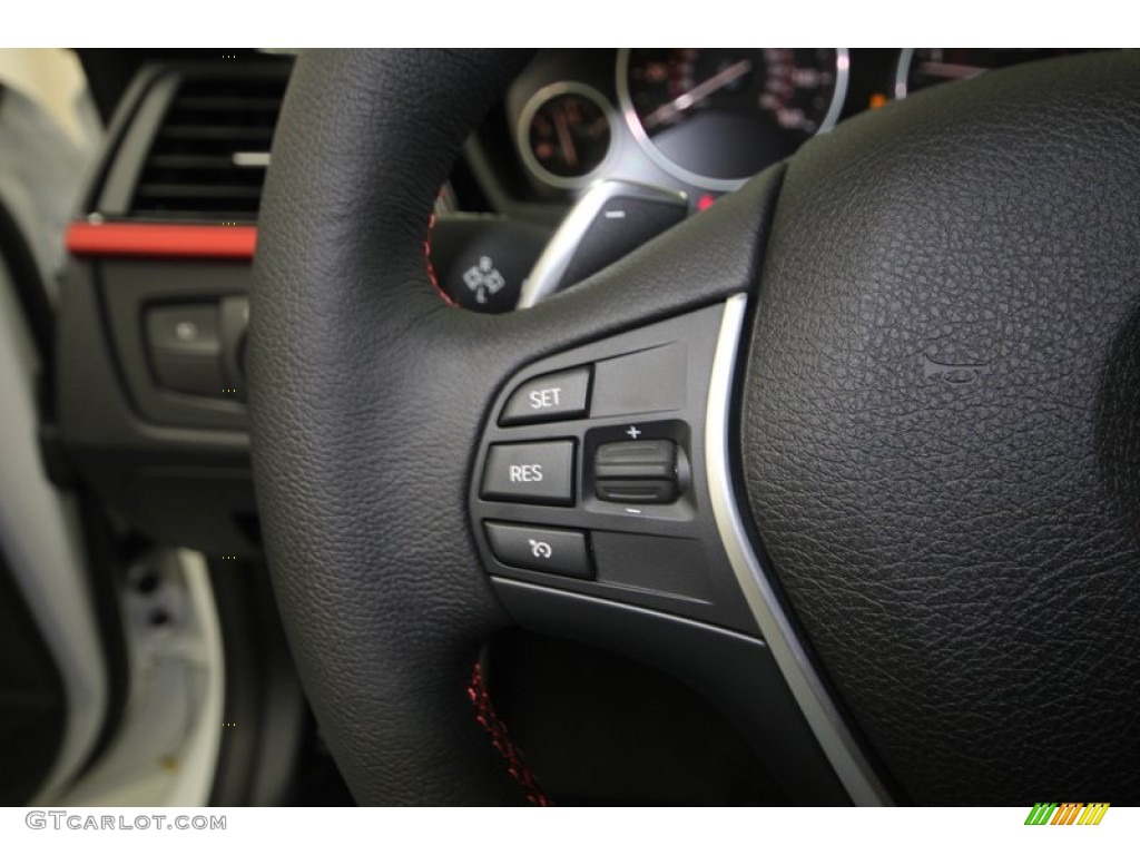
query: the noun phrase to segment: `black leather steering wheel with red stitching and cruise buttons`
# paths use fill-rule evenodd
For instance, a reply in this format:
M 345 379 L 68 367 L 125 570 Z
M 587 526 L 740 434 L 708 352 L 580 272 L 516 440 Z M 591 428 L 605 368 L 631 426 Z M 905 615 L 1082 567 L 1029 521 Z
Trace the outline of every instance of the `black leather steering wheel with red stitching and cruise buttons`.
M 424 243 L 464 139 L 527 60 L 314 51 L 274 144 L 256 489 L 356 797 L 523 799 L 467 694 L 480 645 L 521 620 L 646 657 L 683 644 L 682 670 L 751 651 L 755 669 L 708 654 L 690 677 L 735 668 L 717 685 L 738 712 L 757 685 L 773 699 L 757 715 L 791 705 L 757 731 L 808 733 L 803 765 L 838 782 L 799 800 L 1137 801 L 1140 57 L 888 105 L 581 286 L 479 316 L 439 299 Z M 675 413 L 601 407 L 601 366 L 659 351 L 690 372 Z M 499 423 L 519 383 L 564 364 L 593 366 L 593 410 Z M 591 431 L 622 420 L 679 431 L 675 519 L 589 492 Z M 569 504 L 487 498 L 489 445 L 565 435 Z M 587 531 L 597 577 L 513 573 L 491 516 Z M 703 593 L 654 592 L 638 564 L 668 563 L 649 547 L 674 524 Z

